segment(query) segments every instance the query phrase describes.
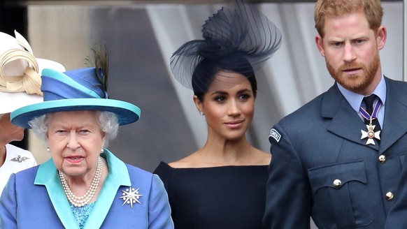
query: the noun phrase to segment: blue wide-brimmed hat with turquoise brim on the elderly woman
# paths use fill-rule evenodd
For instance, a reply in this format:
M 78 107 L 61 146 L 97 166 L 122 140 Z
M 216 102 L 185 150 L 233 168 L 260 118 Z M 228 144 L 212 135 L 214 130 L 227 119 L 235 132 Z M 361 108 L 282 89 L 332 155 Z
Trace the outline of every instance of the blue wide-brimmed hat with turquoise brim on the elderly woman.
M 80 68 L 62 73 L 45 68 L 41 76 L 43 103 L 36 103 L 11 113 L 11 123 L 30 128 L 28 121 L 50 112 L 100 110 L 117 115 L 119 125 L 137 121 L 141 110 L 131 103 L 108 98 L 97 68 Z

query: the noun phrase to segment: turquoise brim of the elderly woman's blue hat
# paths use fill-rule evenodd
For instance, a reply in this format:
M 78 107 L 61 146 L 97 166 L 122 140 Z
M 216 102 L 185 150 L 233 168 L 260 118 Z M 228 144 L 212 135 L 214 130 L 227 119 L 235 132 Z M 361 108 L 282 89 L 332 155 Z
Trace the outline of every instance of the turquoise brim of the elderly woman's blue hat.
M 69 98 L 45 101 L 19 108 L 10 114 L 11 123 L 15 126 L 31 128 L 28 121 L 50 112 L 78 110 L 100 110 L 117 115 L 119 125 L 131 124 L 140 118 L 141 110 L 136 105 L 124 101 L 106 98 Z

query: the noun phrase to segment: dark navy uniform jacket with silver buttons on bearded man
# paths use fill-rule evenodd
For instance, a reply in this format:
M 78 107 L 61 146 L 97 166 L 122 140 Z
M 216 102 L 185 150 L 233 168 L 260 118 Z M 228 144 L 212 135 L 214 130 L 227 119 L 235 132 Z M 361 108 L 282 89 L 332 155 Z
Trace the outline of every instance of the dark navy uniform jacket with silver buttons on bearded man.
M 407 152 L 407 83 L 385 80 L 380 145 L 336 84 L 273 126 L 264 228 L 384 228 Z

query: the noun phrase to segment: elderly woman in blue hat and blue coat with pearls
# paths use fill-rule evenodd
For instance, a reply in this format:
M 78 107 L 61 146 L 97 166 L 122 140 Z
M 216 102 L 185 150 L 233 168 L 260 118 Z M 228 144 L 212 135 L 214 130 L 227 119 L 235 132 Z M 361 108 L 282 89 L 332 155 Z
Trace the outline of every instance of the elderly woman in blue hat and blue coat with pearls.
M 106 149 L 117 128 L 141 113 L 108 98 L 106 73 L 99 66 L 45 69 L 44 101 L 11 113 L 13 124 L 45 140 L 52 158 L 10 176 L 0 198 L 0 228 L 173 228 L 159 177 Z

